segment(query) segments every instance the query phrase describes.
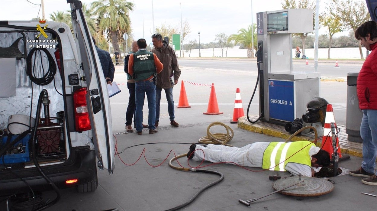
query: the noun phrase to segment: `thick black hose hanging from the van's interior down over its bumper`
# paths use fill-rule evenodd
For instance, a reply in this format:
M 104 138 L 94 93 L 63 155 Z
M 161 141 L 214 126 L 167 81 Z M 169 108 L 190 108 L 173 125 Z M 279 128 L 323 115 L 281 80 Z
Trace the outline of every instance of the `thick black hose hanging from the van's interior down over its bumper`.
M 32 135 L 31 135 L 31 146 L 32 146 L 32 153 L 33 153 L 32 159 L 33 159 L 34 165 L 37 168 L 37 170 L 40 172 L 42 177 L 52 186 L 52 188 L 56 192 L 57 196 L 54 200 L 52 200 L 48 204 L 46 204 L 46 205 L 44 205 L 44 206 L 42 206 L 38 209 L 35 209 L 35 211 L 41 211 L 43 209 L 46 209 L 46 208 L 54 205 L 55 203 L 57 203 L 60 200 L 60 191 L 59 191 L 58 187 L 54 184 L 54 182 L 41 169 L 41 166 L 39 165 L 37 157 L 36 157 L 36 150 L 35 150 L 35 138 L 37 136 L 37 128 L 38 128 L 38 122 L 39 122 L 39 119 L 40 119 L 42 99 L 43 99 L 43 95 L 45 95 L 46 92 L 47 91 L 43 89 L 41 91 L 40 95 L 39 95 L 39 98 L 38 98 L 37 114 L 35 116 L 35 124 L 34 124 L 35 126 L 34 126 L 34 129 L 32 130 Z

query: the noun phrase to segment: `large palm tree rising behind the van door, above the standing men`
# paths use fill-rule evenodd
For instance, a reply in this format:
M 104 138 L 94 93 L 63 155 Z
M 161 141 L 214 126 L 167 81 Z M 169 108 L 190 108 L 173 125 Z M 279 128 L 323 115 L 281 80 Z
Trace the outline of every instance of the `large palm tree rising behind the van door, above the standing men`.
M 134 4 L 126 0 L 98 0 L 92 2 L 91 8 L 98 15 L 99 32 L 107 32 L 113 49 L 119 49 L 118 40 L 130 31 L 131 21 L 129 11 L 133 11 Z

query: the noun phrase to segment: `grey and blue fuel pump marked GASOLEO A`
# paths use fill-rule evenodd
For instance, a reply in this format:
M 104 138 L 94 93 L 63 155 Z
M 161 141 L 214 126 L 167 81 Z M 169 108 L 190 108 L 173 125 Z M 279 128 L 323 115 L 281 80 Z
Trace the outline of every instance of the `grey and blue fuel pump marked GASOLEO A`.
M 285 125 L 319 97 L 320 72 L 292 68 L 292 34 L 307 32 L 313 32 L 311 9 L 257 13 L 259 114 L 264 122 Z

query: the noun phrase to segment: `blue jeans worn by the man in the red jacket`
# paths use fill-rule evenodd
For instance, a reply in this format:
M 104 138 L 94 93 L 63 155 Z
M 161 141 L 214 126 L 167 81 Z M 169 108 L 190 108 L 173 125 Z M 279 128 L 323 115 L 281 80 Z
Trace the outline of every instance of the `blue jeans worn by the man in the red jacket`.
M 360 136 L 363 139 L 363 162 L 361 167 L 368 173 L 375 173 L 377 156 L 377 110 L 364 109 L 360 125 Z

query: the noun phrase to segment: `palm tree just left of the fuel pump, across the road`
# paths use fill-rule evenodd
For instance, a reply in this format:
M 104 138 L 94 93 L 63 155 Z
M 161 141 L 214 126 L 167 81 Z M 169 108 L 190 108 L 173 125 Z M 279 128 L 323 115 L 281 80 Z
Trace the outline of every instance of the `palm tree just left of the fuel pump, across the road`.
M 253 55 L 253 49 L 255 49 L 257 45 L 257 35 L 256 35 L 256 24 L 253 23 L 253 29 L 254 32 L 251 29 L 251 25 L 247 27 L 247 29 L 240 29 L 238 30 L 238 34 L 231 34 L 228 38 L 228 41 L 233 41 L 234 40 L 234 45 L 241 44 L 245 48 L 247 48 L 247 57 L 254 57 Z M 252 46 L 253 42 L 252 40 L 252 34 L 254 33 L 254 46 Z

